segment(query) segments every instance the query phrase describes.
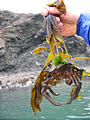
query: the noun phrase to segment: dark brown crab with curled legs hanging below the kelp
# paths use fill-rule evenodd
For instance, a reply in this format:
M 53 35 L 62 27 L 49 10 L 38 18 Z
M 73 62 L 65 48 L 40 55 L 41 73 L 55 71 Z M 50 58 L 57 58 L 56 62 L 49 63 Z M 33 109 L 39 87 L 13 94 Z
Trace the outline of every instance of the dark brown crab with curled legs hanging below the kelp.
M 45 70 L 45 72 L 47 71 Z M 71 63 L 65 63 L 63 65 L 60 64 L 53 70 L 50 69 L 50 71 L 47 72 L 47 75 L 44 75 L 44 77 L 46 76 L 46 80 L 42 82 L 41 94 L 55 106 L 60 106 L 62 104 L 71 104 L 71 102 L 78 97 L 78 94 L 80 92 L 82 85 L 82 73 L 83 69 L 78 69 Z M 46 90 L 50 90 L 50 92 L 55 96 L 59 95 L 55 94 L 50 87 L 56 86 L 56 84 L 60 83 L 61 80 L 65 80 L 66 84 L 69 86 L 74 83 L 74 87 L 70 94 L 70 100 L 67 103 L 57 104 L 53 101 L 53 99 L 50 97 L 49 93 Z

